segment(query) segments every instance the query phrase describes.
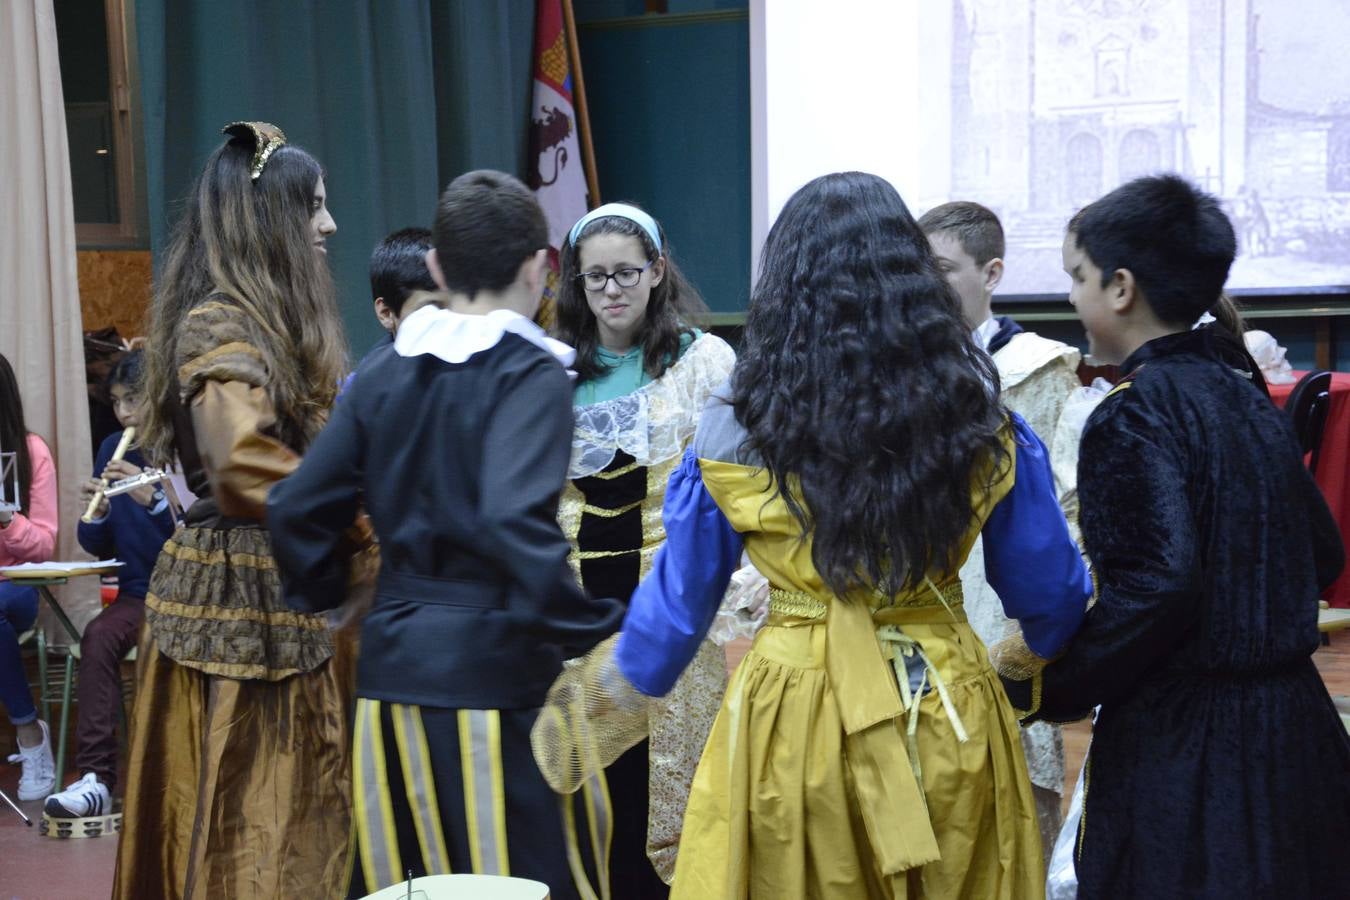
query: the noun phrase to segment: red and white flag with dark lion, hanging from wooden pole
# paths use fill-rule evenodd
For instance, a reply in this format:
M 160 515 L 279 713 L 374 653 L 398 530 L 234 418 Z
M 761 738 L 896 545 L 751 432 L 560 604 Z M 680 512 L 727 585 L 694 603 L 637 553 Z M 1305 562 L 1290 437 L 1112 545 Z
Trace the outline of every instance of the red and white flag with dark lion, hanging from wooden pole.
M 535 97 L 529 117 L 526 181 L 548 217 L 554 273 L 544 291 L 552 305 L 558 285 L 558 252 L 572 223 L 590 209 L 586 167 L 574 103 L 575 80 L 563 24 L 563 0 L 539 0 L 535 7 Z

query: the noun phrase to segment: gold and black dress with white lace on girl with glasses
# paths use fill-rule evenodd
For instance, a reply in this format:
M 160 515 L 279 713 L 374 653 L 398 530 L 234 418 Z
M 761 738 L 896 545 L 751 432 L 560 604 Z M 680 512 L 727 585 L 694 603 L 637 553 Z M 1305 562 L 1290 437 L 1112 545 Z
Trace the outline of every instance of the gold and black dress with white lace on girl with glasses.
M 576 578 L 593 596 L 626 602 L 651 569 L 666 542 L 666 483 L 734 362 L 724 340 L 699 333 L 659 379 L 644 378 L 630 393 L 576 407 L 558 518 L 572 545 Z M 583 851 L 610 860 L 608 876 L 594 874 L 612 884 L 616 897 L 656 896 L 663 885 L 660 881 L 674 874 L 688 785 L 725 684 L 726 656 L 705 641 L 675 688 L 652 704 L 648 742 L 612 765 L 606 784 L 597 779 L 583 785 L 580 808 L 594 808 L 603 793 L 614 807 L 602 827 L 589 830 Z

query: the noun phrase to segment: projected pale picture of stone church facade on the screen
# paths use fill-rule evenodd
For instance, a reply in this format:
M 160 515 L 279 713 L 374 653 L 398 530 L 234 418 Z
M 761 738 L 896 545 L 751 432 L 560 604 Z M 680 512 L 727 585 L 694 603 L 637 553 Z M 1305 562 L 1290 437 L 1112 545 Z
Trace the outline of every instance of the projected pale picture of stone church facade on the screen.
M 1224 198 L 1234 287 L 1350 283 L 1350 32 L 1342 0 L 945 0 L 919 7 L 938 194 L 992 206 L 1006 293 L 1062 291 L 1083 204 L 1180 171 Z M 930 94 L 932 97 L 932 94 Z M 946 119 L 945 121 L 942 119 Z M 945 188 L 945 190 L 942 190 Z

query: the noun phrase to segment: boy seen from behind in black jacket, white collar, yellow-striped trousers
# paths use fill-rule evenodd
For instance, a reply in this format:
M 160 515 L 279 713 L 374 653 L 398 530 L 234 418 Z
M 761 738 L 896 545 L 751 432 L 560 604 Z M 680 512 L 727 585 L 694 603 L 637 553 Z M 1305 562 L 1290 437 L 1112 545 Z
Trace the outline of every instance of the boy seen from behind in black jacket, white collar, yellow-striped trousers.
M 362 626 L 351 896 L 474 872 L 578 891 L 529 730 L 562 661 L 618 627 L 567 564 L 558 497 L 572 351 L 529 321 L 548 266 L 543 210 L 475 171 L 440 198 L 428 266 L 447 309 L 400 324 L 362 370 L 267 524 L 297 609 L 344 596 L 358 503 L 381 545 Z

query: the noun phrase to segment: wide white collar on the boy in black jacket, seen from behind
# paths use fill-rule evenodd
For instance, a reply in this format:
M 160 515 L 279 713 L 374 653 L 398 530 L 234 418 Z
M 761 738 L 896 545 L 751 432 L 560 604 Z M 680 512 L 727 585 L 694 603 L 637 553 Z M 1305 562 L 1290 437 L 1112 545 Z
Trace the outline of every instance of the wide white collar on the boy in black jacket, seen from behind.
M 576 351 L 544 333 L 544 329 L 520 313 L 494 309 L 483 316 L 452 313 L 437 306 L 423 306 L 398 325 L 394 352 L 400 356 L 431 354 L 447 363 L 463 363 L 474 354 L 491 349 L 506 333 L 524 337 L 531 344 L 547 349 L 568 375 Z

